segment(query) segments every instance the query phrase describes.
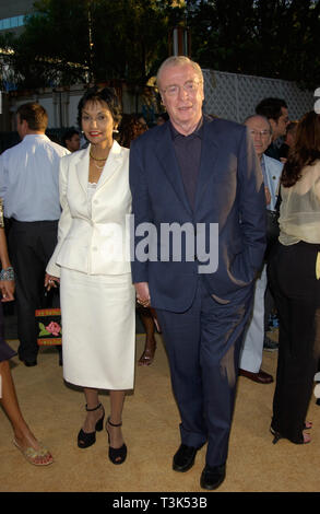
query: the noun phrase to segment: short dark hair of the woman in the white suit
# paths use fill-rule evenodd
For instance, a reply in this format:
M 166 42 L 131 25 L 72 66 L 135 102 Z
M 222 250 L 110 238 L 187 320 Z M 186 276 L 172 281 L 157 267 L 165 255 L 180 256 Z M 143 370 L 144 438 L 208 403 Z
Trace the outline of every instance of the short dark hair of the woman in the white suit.
M 94 85 L 87 90 L 78 104 L 78 124 L 82 128 L 82 110 L 87 102 L 105 102 L 115 121 L 115 126 L 118 126 L 121 121 L 122 108 L 119 98 L 114 87 L 98 87 Z

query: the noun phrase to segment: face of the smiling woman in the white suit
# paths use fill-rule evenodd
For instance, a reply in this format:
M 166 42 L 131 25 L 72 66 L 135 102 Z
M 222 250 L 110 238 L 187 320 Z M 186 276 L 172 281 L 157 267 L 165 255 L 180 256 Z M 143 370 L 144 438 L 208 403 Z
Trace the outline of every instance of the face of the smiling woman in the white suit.
M 82 109 L 82 130 L 92 144 L 112 141 L 115 122 L 105 102 L 87 102 Z

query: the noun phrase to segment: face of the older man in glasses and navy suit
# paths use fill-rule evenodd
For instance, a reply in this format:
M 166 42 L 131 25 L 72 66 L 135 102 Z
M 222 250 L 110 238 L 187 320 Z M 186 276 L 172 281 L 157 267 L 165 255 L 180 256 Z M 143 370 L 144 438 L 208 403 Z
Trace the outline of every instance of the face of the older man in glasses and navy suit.
M 161 73 L 159 91 L 174 127 L 186 136 L 202 116 L 203 83 L 191 65 L 168 66 Z

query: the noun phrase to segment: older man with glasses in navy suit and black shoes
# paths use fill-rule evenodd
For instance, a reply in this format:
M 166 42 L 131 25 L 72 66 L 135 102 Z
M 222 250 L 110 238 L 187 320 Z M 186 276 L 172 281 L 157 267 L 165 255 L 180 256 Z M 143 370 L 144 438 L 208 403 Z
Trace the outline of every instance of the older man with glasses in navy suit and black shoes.
M 201 487 L 225 478 L 242 332 L 265 248 L 262 173 L 247 129 L 202 115 L 203 77 L 170 57 L 157 85 L 169 121 L 130 152 L 138 301 L 157 311 L 187 471 L 208 443 Z

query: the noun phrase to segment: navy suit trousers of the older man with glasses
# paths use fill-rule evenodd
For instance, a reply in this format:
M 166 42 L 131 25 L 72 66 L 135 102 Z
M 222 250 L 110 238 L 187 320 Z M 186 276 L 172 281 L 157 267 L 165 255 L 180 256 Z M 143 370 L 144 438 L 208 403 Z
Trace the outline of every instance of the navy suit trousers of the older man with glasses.
M 227 459 L 239 351 L 250 315 L 252 288 L 229 304 L 217 303 L 202 276 L 192 305 L 183 313 L 157 309 L 179 407 L 181 443 L 208 442 L 206 464 Z

